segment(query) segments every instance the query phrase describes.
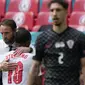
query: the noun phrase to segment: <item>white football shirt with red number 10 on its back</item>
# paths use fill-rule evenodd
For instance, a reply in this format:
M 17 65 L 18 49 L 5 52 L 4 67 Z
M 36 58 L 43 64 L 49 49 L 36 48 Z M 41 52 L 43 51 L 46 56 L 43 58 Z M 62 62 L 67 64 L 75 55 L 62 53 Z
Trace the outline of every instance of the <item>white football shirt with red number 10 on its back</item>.
M 6 58 L 10 59 L 9 62 L 18 63 L 18 67 L 14 71 L 3 72 L 3 85 L 27 85 L 28 73 L 35 53 L 22 53 L 19 57 L 15 57 L 13 52 L 9 52 Z

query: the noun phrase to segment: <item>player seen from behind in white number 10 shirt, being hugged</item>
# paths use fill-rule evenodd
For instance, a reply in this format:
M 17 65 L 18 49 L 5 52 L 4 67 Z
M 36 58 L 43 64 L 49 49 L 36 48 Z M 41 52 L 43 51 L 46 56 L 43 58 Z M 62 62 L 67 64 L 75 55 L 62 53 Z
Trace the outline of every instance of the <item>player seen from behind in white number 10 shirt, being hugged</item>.
M 29 47 L 31 34 L 24 28 L 18 28 L 15 33 L 15 47 Z M 32 46 L 33 48 L 33 46 Z M 22 53 L 19 57 L 14 56 L 14 51 L 5 55 L 9 62 L 16 62 L 17 68 L 13 71 L 3 72 L 3 85 L 27 85 L 28 73 L 32 63 L 32 57 L 35 55 L 35 49 L 32 53 Z

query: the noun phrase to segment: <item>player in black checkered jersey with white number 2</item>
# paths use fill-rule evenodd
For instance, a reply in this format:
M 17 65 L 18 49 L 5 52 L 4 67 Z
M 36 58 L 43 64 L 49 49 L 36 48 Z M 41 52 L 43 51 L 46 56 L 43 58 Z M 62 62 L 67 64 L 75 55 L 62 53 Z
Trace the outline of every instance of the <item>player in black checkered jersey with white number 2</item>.
M 80 85 L 80 70 L 85 80 L 85 34 L 67 25 L 67 2 L 51 0 L 48 6 L 53 27 L 36 40 L 28 85 L 33 85 L 42 61 L 45 85 Z

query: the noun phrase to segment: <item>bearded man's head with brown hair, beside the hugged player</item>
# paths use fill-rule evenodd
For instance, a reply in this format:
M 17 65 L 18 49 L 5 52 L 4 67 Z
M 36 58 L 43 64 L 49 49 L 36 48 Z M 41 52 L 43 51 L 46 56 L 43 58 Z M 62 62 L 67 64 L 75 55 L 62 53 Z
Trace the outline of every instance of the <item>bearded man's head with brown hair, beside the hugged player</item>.
M 7 45 L 14 43 L 14 34 L 16 31 L 16 23 L 14 20 L 5 19 L 0 23 L 0 32 L 2 38 Z

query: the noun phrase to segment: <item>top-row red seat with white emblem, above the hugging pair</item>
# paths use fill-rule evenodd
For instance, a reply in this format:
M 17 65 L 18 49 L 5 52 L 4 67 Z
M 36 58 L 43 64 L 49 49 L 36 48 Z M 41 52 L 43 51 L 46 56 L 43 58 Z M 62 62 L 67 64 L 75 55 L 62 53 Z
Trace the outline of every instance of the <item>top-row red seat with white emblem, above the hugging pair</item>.
M 10 0 L 8 11 L 38 13 L 39 0 Z

